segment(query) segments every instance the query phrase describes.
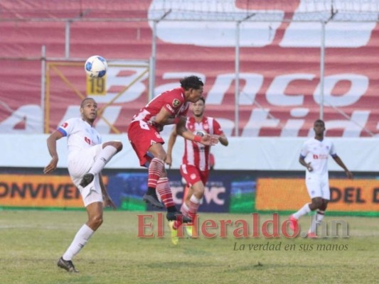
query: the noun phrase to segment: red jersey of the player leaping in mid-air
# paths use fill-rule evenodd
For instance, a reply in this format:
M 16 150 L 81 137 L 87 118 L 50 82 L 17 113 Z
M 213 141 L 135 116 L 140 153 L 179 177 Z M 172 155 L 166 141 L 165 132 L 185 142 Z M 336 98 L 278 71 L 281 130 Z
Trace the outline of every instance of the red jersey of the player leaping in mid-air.
M 188 107 L 189 102 L 186 102 L 186 98 L 184 97 L 184 89 L 181 87 L 171 89 L 151 99 L 151 101 L 133 117 L 133 121 L 145 121 L 154 126 L 157 131 L 161 131 L 161 126 L 154 125 L 154 123 L 150 122 L 153 116 L 156 116 L 162 108 L 169 111 L 172 118 L 186 116 Z

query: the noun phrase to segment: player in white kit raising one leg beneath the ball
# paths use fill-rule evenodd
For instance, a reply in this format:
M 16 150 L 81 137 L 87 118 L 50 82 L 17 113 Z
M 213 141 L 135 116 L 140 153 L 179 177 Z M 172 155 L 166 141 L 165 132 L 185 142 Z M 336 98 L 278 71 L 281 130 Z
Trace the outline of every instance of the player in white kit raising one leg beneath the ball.
M 119 141 L 102 143 L 100 134 L 93 127 L 97 118 L 97 103 L 94 99 L 82 100 L 80 114 L 81 118 L 68 119 L 48 137 L 47 144 L 51 160 L 43 170 L 44 173 L 51 173 L 57 168 L 56 141 L 67 136 L 68 172 L 71 180 L 80 190 L 88 214 L 87 222 L 79 229 L 67 251 L 57 263 L 60 268 L 68 272 L 78 272 L 72 258 L 102 224 L 102 207 L 115 208 L 102 182 L 100 172 L 113 155 L 122 150 L 122 143 Z

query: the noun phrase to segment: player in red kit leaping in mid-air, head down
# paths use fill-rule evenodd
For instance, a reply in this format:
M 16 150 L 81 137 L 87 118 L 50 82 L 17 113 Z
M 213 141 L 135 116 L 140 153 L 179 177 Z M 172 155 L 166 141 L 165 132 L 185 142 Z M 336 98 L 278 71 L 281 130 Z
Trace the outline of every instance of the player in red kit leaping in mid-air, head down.
M 154 97 L 146 106 L 133 117 L 129 125 L 128 137 L 134 151 L 139 158 L 139 164 L 149 169 L 148 190 L 143 200 L 156 207 L 162 208 L 156 195 L 159 192 L 162 202 L 167 209 L 166 218 L 176 220 L 177 216 L 183 222 L 191 219 L 183 217 L 176 209 L 172 199 L 169 179 L 164 168 L 166 151 L 164 140 L 159 132 L 165 125 L 176 124 L 176 133 L 191 141 L 204 145 L 213 145 L 218 142 L 217 137 L 196 136 L 186 129 L 186 115 L 190 102 L 196 102 L 203 94 L 203 82 L 196 76 L 185 77 L 180 80 L 181 87 L 171 89 Z

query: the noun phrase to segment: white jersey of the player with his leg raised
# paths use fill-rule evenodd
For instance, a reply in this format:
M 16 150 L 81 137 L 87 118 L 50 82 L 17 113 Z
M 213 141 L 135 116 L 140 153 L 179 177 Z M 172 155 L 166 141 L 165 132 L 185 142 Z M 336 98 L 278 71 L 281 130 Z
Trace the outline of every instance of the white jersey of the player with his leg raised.
M 100 133 L 81 118 L 68 119 L 58 131 L 67 136 L 68 155 L 102 143 Z

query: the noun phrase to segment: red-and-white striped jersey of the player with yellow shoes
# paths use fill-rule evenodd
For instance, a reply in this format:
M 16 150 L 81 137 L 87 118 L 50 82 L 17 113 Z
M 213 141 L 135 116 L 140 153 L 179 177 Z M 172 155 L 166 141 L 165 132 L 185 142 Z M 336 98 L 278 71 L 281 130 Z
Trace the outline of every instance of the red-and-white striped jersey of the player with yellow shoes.
M 222 135 L 218 121 L 213 117 L 203 116 L 201 122 L 196 122 L 194 117 L 188 117 L 186 121 L 186 128 L 192 131 L 193 134 L 203 136 L 204 132 L 208 134 Z M 210 146 L 205 146 L 201 143 L 193 142 L 190 140 L 184 141 L 184 155 L 183 164 L 194 165 L 201 171 L 210 169 Z

